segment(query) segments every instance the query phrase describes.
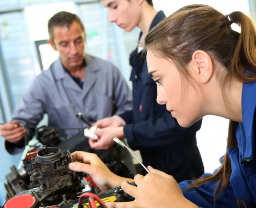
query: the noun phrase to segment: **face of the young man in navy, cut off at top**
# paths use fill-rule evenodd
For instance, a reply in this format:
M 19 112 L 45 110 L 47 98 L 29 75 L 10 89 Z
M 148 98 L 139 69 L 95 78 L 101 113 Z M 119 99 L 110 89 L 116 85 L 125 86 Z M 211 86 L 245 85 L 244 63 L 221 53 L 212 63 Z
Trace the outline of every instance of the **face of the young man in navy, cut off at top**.
M 109 21 L 129 32 L 138 26 L 141 19 L 141 3 L 137 0 L 101 0 L 109 10 Z

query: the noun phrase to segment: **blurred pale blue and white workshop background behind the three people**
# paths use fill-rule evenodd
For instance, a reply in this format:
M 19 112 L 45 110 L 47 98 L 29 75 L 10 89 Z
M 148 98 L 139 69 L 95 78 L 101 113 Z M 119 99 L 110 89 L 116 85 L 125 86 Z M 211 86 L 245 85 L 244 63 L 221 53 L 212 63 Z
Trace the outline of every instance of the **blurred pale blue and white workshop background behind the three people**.
M 255 0 L 153 0 L 156 10 L 168 16 L 189 4 L 207 4 L 224 15 L 240 10 L 255 21 Z M 85 24 L 86 53 L 112 61 L 129 82 L 131 67 L 129 54 L 136 47 L 138 29 L 131 32 L 108 22 L 108 11 L 98 0 L 0 0 L 0 123 L 8 122 L 11 112 L 19 105 L 34 76 L 47 70 L 58 53 L 47 43 L 47 22 L 56 12 L 76 13 Z M 233 24 L 234 30 L 239 27 Z M 47 122 L 47 118 L 43 123 Z M 205 116 L 197 132 L 197 143 L 205 172 L 219 166 L 218 159 L 225 153 L 228 121 L 217 116 Z M 9 155 L 0 136 L 0 206 L 5 202 L 5 175 L 10 166 L 17 167 L 21 154 Z

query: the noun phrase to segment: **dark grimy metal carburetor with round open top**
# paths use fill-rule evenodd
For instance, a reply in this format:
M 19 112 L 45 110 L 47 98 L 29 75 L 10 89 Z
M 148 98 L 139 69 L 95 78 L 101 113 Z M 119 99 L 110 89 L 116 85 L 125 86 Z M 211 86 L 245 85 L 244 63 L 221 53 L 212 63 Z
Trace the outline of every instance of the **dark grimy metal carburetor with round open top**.
M 31 162 L 34 168 L 29 172 L 32 192 L 43 205 L 60 203 L 63 194 L 72 201 L 85 188 L 82 173 L 68 168 L 68 164 L 73 162 L 68 150 L 63 154 L 59 148 L 42 147 Z

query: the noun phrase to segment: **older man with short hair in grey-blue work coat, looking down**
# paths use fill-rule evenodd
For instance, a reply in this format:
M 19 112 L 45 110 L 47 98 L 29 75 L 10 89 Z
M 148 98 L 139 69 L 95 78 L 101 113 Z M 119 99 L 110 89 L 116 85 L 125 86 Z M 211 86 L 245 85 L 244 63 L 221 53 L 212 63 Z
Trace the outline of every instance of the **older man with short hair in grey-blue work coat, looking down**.
M 132 93 L 119 69 L 109 61 L 85 55 L 85 29 L 75 14 L 58 12 L 49 20 L 48 32 L 49 43 L 60 56 L 30 84 L 11 122 L 0 127 L 10 154 L 24 150 L 33 136 L 24 125 L 36 126 L 45 113 L 50 127 L 67 128 L 60 135 L 71 138 L 79 134 L 71 128 L 87 126 L 76 117 L 79 112 L 92 124 L 132 109 Z M 83 142 L 88 144 L 88 139 L 84 137 Z M 122 159 L 132 166 L 129 153 L 121 149 Z

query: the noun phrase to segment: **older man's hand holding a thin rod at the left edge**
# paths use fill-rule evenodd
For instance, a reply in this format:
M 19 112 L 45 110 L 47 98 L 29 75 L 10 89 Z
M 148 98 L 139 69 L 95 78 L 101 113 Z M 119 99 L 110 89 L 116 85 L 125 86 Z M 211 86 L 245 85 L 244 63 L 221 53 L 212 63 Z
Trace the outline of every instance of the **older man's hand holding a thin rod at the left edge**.
M 5 140 L 18 144 L 19 141 L 24 138 L 26 133 L 26 128 L 20 126 L 18 121 L 9 122 L 0 126 L 1 136 L 5 138 Z

